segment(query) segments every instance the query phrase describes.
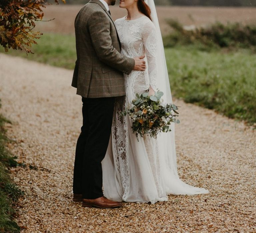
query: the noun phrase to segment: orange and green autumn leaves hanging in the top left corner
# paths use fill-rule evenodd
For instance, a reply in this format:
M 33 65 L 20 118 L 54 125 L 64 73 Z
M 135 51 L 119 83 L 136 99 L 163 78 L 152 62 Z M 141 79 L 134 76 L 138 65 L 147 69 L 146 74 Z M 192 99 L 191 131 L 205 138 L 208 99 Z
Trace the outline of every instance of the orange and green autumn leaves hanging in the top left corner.
M 65 2 L 65 0 L 62 0 Z M 58 4 L 58 0 L 55 0 Z M 29 47 L 36 44 L 42 33 L 32 31 L 35 21 L 42 20 L 42 8 L 46 0 L 1 0 L 0 1 L 0 44 L 5 52 L 8 49 L 24 50 L 31 53 Z

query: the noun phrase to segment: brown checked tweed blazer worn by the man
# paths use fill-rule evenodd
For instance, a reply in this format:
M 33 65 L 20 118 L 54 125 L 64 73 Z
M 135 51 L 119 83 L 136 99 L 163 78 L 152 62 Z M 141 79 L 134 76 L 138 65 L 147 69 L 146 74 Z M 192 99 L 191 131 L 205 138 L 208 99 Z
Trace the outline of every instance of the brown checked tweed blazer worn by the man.
M 115 24 L 99 0 L 83 6 L 75 19 L 77 60 L 71 86 L 85 98 L 124 96 L 123 73 L 135 61 L 122 55 Z

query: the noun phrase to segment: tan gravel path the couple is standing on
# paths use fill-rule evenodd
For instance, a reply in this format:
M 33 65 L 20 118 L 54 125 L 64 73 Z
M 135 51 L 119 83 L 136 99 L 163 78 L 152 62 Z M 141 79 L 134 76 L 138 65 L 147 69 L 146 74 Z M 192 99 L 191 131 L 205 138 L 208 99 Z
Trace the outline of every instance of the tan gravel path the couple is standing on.
M 16 219 L 24 232 L 256 232 L 256 131 L 178 100 L 179 174 L 209 194 L 106 210 L 73 203 L 82 104 L 70 86 L 72 74 L 0 54 L 1 112 L 12 120 L 6 127 L 16 141 L 9 147 L 27 164 L 11 169 L 26 194 Z

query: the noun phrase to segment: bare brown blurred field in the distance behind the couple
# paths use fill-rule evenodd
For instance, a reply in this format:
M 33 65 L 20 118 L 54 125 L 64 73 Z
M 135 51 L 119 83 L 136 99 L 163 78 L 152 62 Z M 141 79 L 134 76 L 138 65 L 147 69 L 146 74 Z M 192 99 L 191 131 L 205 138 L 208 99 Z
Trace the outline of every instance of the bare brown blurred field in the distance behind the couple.
M 36 30 L 42 32 L 54 32 L 74 34 L 74 20 L 76 14 L 83 5 L 50 5 L 44 9 L 44 20 L 49 22 L 37 22 Z M 126 15 L 126 10 L 110 6 L 114 20 Z M 242 24 L 256 24 L 256 8 L 254 7 L 202 7 L 202 6 L 157 6 L 157 15 L 163 35 L 170 31 L 167 19 L 175 19 L 182 25 L 206 26 L 219 21 L 240 22 Z

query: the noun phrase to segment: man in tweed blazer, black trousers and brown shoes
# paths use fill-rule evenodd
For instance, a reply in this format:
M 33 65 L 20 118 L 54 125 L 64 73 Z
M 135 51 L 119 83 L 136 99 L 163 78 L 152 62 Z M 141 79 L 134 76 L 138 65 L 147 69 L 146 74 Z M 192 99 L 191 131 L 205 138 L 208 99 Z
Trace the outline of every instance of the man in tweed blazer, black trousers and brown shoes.
M 77 140 L 73 200 L 82 206 L 122 205 L 103 196 L 102 167 L 111 133 L 116 97 L 125 95 L 124 74 L 144 71 L 144 56 L 122 55 L 109 5 L 116 0 L 91 0 L 75 19 L 77 60 L 72 86 L 82 96 L 83 126 Z

